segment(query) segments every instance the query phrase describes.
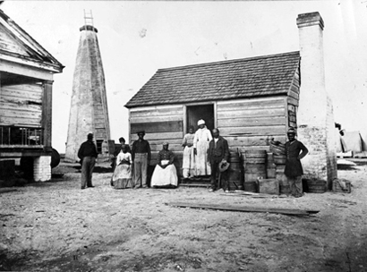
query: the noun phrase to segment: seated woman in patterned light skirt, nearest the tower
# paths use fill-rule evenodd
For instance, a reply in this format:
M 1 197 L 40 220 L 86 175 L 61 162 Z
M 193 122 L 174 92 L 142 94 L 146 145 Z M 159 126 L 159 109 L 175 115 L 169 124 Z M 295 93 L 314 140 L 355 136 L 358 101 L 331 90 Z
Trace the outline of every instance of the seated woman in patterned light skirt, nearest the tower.
M 116 166 L 111 178 L 111 186 L 115 189 L 132 188 L 132 154 L 127 152 L 128 146 L 122 145 L 116 157 Z

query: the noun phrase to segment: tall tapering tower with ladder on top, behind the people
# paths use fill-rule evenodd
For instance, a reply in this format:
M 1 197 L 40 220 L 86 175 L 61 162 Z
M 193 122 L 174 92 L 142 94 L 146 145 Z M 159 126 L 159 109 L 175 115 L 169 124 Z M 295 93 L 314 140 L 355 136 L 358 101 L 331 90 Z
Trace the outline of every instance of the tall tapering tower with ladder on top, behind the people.
M 65 161 L 79 161 L 78 150 L 93 133 L 98 153 L 108 157 L 110 139 L 105 74 L 98 47 L 98 30 L 90 13 L 84 12 L 84 26 L 73 75 L 73 95 L 69 115 Z

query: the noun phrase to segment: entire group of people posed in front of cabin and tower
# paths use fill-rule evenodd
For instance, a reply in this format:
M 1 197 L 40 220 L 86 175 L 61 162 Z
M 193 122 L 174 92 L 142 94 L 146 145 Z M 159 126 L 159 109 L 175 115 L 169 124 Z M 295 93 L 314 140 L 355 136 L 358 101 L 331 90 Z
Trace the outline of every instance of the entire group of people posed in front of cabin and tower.
M 227 168 L 229 166 L 229 149 L 226 139 L 219 136 L 219 130 L 211 132 L 204 120 L 198 121 L 198 130 L 189 128 L 183 137 L 183 178 L 210 175 L 209 191 L 223 188 L 229 191 Z M 120 138 L 121 148 L 115 151 L 114 174 L 111 185 L 115 189 L 148 188 L 147 172 L 151 159 L 149 142 L 144 140 L 145 132 L 137 132 L 139 139 L 132 143 L 132 149 Z M 303 167 L 300 160 L 307 155 L 308 149 L 295 139 L 294 129 L 287 132 L 285 174 L 290 185 L 290 193 L 294 197 L 303 195 Z M 158 152 L 158 163 L 151 176 L 150 187 L 173 187 L 178 183 L 174 165 L 175 155 L 164 142 Z M 91 176 L 98 152 L 93 142 L 93 134 L 81 144 L 78 157 L 81 159 L 81 189 L 94 187 Z

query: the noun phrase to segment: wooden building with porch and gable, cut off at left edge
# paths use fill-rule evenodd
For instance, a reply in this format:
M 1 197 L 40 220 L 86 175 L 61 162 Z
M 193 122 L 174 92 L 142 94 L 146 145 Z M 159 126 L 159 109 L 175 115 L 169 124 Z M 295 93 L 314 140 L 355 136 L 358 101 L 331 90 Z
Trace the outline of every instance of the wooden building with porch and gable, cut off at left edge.
M 21 158 L 36 181 L 51 178 L 53 74 L 63 68 L 0 10 L 0 161 Z

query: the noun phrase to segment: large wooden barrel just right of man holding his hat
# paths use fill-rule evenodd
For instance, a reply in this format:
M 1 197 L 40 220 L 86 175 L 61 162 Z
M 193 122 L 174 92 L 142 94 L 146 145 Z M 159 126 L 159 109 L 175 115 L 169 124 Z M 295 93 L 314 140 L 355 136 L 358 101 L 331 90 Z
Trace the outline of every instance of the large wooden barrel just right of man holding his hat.
M 245 150 L 242 154 L 244 191 L 258 191 L 258 180 L 267 178 L 267 156 L 266 150 Z

